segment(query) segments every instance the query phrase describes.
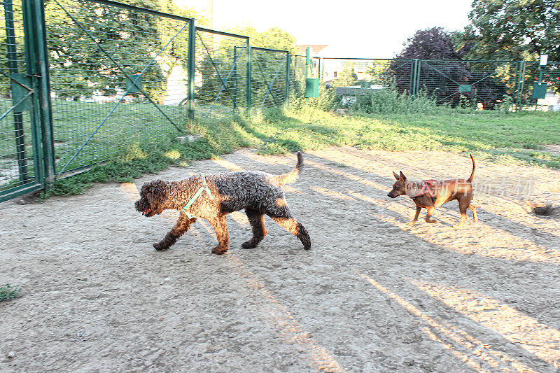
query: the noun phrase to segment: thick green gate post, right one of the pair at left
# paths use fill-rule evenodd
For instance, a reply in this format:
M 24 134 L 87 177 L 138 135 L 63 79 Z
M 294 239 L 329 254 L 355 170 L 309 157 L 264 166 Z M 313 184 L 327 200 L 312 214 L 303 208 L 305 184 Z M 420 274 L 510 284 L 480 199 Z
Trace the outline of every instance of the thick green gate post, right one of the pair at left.
M 46 184 L 48 191 L 55 181 L 55 135 L 54 123 L 52 120 L 52 103 L 50 101 L 50 76 L 48 65 L 47 31 L 45 25 L 45 4 L 43 0 L 31 1 L 34 6 L 33 28 L 36 31 L 36 63 L 38 76 L 38 102 L 41 109 L 39 111 L 40 128 L 43 134 L 43 161 L 45 167 Z

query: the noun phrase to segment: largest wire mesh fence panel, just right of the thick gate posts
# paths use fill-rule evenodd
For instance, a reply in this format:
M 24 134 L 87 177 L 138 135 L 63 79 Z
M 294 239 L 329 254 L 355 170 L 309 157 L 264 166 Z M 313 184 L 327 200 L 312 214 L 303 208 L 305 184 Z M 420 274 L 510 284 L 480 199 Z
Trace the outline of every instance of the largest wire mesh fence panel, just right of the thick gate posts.
M 190 19 L 52 0 L 45 23 L 59 176 L 186 129 Z

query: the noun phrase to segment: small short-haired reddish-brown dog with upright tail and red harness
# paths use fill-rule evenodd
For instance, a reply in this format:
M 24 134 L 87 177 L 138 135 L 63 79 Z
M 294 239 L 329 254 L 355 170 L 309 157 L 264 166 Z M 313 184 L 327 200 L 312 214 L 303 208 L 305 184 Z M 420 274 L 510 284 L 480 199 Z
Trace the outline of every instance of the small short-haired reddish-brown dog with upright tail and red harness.
M 393 184 L 393 190 L 388 192 L 388 197 L 395 198 L 400 195 L 407 195 L 412 198 L 416 204 L 416 214 L 414 219 L 409 222 L 409 225 L 414 225 L 418 221 L 418 216 L 422 208 L 427 209 L 426 221 L 428 223 L 435 223 L 436 220 L 432 218 L 433 212 L 436 207 L 441 206 L 445 202 L 456 199 L 459 203 L 459 211 L 461 212 L 461 221 L 453 227 L 458 227 L 465 223 L 467 220 L 467 209 L 472 211 L 473 220 L 476 222 L 477 209 L 470 203 L 472 201 L 472 178 L 475 176 L 475 159 L 470 155 L 472 160 L 472 172 L 468 179 L 454 179 L 454 180 L 424 180 L 420 183 L 407 180 L 406 176 L 400 171 L 400 175 L 393 171 L 393 176 L 397 181 Z

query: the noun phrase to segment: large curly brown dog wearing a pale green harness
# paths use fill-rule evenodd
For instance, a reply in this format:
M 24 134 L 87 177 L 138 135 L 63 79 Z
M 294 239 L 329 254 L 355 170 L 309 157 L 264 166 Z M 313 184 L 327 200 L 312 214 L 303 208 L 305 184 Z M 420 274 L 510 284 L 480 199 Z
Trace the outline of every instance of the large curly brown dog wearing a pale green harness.
M 265 238 L 266 214 L 300 239 L 304 249 L 309 250 L 309 234 L 292 216 L 280 188 L 280 185 L 293 183 L 302 166 L 303 156 L 297 152 L 295 168 L 283 175 L 260 171 L 231 171 L 209 176 L 196 175 L 180 181 L 150 181 L 142 186 L 141 198 L 134 207 L 146 217 L 160 214 L 166 209 L 181 211 L 181 216 L 172 230 L 162 241 L 153 245 L 158 251 L 167 250 L 187 232 L 197 218 L 203 218 L 208 220 L 216 231 L 218 246 L 212 249 L 212 253 L 225 253 L 230 243 L 225 216 L 241 209 L 245 209 L 253 229 L 253 237 L 241 247 L 254 248 Z

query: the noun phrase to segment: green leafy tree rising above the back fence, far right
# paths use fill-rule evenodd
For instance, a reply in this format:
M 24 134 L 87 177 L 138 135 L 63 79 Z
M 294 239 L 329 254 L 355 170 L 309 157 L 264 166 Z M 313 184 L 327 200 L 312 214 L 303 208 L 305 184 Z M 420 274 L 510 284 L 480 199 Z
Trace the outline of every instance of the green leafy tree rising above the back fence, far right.
M 560 61 L 558 0 L 474 0 L 469 19 L 470 57 Z

